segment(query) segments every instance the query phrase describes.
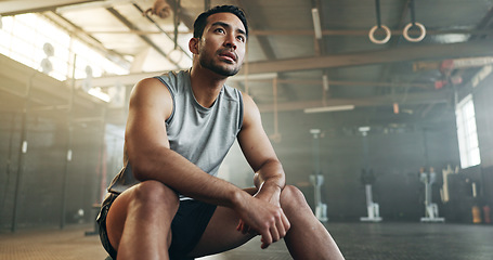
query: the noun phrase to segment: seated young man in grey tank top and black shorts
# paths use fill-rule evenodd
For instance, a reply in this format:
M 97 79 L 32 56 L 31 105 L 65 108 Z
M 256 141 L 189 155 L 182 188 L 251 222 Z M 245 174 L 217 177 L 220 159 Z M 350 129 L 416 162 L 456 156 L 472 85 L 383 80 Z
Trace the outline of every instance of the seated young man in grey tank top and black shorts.
M 193 259 L 256 235 L 262 248 L 284 238 L 294 259 L 343 259 L 285 174 L 250 96 L 224 84 L 245 56 L 248 27 L 231 5 L 199 15 L 190 70 L 140 81 L 130 99 L 126 167 L 99 216 L 116 259 Z M 238 140 L 255 188 L 215 176 Z

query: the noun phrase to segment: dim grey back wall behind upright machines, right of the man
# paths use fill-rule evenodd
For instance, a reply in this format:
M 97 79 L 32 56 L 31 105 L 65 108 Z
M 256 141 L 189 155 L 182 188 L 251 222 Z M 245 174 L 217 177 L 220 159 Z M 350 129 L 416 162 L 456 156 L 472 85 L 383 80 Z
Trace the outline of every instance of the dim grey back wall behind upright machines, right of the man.
M 398 125 L 375 122 L 371 108 L 351 112 L 307 115 L 302 112 L 280 113 L 281 142 L 273 146 L 283 162 L 287 183 L 300 187 L 313 205 L 313 187 L 309 182 L 314 172 L 313 138 L 310 129 L 321 129 L 321 169 L 325 178 L 322 195 L 332 220 L 358 220 L 366 214 L 364 184 L 365 168 L 363 135 L 359 127 L 371 126 L 367 136 L 368 168 L 376 176 L 374 200 L 380 205 L 386 219 L 418 221 L 424 214 L 424 184 L 419 182 L 420 167 L 433 167 L 439 181 L 433 200 L 440 203 L 441 170 L 458 161 L 455 114 L 450 105 L 434 107 L 426 117 L 406 114 Z M 369 115 L 369 116 L 368 116 Z M 274 132 L 273 114 L 263 114 L 268 134 Z M 241 172 L 249 169 L 233 150 L 226 164 L 237 165 Z M 245 168 L 243 168 L 245 167 Z M 244 177 L 242 177 L 244 178 Z

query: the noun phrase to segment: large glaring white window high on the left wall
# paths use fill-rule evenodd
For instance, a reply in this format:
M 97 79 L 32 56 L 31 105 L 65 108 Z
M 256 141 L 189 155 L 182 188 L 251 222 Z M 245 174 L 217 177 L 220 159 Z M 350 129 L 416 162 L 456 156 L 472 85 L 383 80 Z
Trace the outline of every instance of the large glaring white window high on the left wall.
M 47 57 L 43 51 L 47 42 L 54 49 L 53 56 Z M 74 54 L 77 55 L 75 78 L 86 78 L 87 66 L 91 67 L 93 77 L 129 72 L 38 14 L 2 17 L 0 53 L 40 72 L 42 60 L 48 58 L 52 65 L 48 75 L 62 81 L 73 78 Z

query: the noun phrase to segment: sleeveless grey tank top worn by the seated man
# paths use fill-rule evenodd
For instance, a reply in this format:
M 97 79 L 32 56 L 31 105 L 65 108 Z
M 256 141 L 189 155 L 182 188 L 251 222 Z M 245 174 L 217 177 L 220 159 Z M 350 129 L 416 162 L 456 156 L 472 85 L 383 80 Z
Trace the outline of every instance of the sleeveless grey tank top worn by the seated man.
M 189 70 L 170 72 L 156 78 L 168 88 L 173 100 L 173 110 L 166 120 L 170 148 L 205 172 L 217 176 L 242 128 L 242 93 L 224 84 L 212 106 L 204 107 L 195 100 Z M 119 194 L 137 183 L 128 164 L 113 179 L 108 192 Z

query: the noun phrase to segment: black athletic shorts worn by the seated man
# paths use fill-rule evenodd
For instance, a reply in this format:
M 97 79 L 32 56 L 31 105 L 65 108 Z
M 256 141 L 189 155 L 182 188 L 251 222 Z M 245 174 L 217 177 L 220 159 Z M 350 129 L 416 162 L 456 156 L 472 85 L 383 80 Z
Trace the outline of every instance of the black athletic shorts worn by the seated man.
M 109 244 L 106 233 L 106 216 L 117 196 L 111 194 L 104 199 L 96 219 L 100 225 L 101 243 L 113 259 L 116 259 L 117 252 Z M 198 200 L 180 202 L 180 207 L 171 223 L 172 239 L 168 250 L 170 259 L 193 259 L 186 258 L 186 255 L 197 245 L 215 210 L 215 205 Z

